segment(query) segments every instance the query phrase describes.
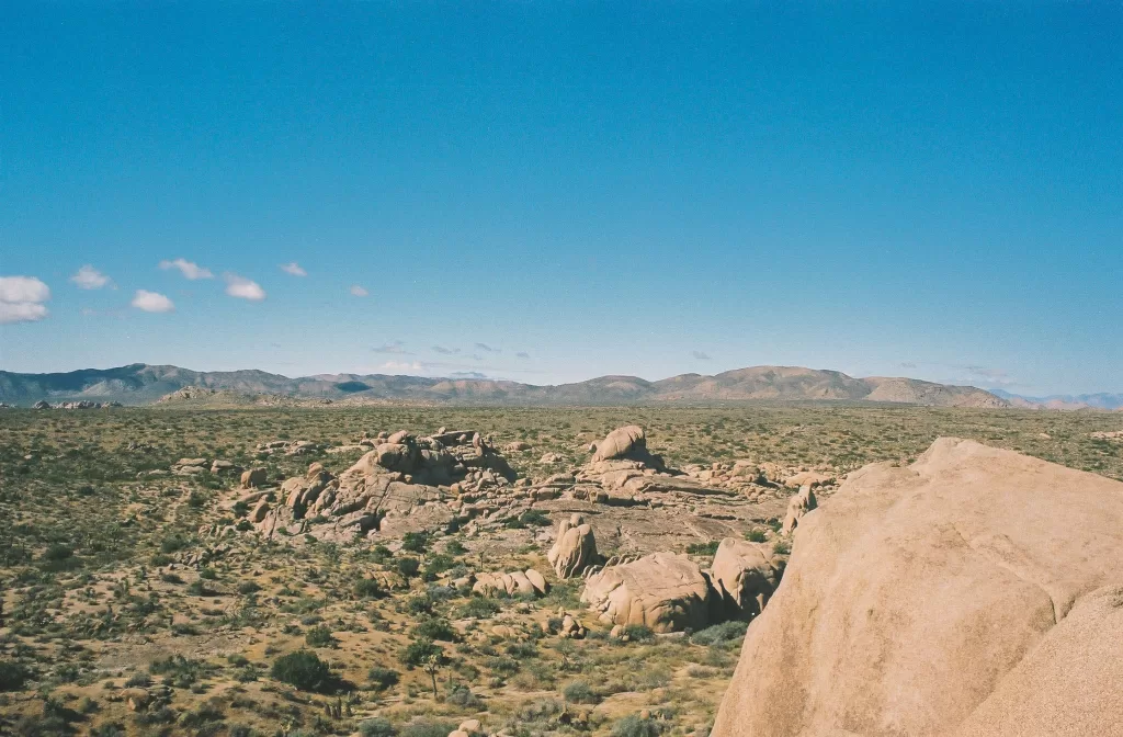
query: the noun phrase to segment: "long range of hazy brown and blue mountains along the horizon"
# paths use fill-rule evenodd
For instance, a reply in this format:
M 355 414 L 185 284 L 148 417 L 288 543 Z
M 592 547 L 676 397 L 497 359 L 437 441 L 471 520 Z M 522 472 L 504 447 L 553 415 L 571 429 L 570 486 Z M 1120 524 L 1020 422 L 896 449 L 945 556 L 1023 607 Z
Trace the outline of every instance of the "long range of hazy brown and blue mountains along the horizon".
M 200 388 L 204 391 L 191 391 Z M 36 401 L 118 401 L 125 404 L 190 402 L 201 397 L 282 395 L 332 401 L 394 401 L 489 406 L 595 406 L 706 403 L 750 400 L 897 402 L 935 407 L 1001 408 L 1010 403 L 975 386 L 950 386 L 916 379 L 855 379 L 838 371 L 754 366 L 715 376 L 682 374 L 661 381 L 601 376 L 573 384 L 537 386 L 489 379 L 428 379 L 385 374 L 320 374 L 289 379 L 264 371 L 191 371 L 133 364 L 70 373 L 19 374 L 0 371 L 0 401 L 27 407 Z

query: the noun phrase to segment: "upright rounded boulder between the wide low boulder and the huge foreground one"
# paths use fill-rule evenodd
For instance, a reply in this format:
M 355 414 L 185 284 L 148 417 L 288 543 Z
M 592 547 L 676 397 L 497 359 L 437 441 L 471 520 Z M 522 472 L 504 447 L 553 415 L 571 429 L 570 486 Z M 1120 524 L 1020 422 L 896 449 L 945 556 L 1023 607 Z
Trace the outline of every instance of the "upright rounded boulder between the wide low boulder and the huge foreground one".
M 779 585 L 786 561 L 772 545 L 727 537 L 713 556 L 712 582 L 722 616 L 754 619 Z

